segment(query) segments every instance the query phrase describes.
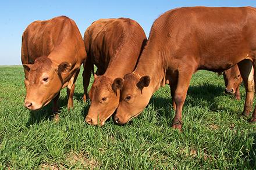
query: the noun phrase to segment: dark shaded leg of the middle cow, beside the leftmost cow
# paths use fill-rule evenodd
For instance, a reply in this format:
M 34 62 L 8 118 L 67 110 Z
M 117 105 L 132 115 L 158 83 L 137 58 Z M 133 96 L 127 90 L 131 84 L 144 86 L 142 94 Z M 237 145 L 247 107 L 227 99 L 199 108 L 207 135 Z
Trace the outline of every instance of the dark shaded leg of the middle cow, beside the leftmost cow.
M 86 62 L 83 64 L 84 71 L 83 71 L 83 86 L 84 86 L 84 96 L 83 100 L 86 102 L 87 99 L 87 92 L 88 92 L 88 85 L 90 83 L 91 78 L 91 71 L 93 70 L 93 63 L 91 63 L 91 59 L 88 57 Z

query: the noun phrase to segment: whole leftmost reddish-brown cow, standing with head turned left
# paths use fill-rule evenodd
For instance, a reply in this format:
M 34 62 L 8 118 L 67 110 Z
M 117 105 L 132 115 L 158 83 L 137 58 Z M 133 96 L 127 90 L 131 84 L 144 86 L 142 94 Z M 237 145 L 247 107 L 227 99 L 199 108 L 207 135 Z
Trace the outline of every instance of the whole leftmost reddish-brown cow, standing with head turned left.
M 58 98 L 67 87 L 67 108 L 73 107 L 74 82 L 86 59 L 83 38 L 66 16 L 34 21 L 22 35 L 22 64 L 25 72 L 25 106 L 38 110 L 53 99 L 58 120 Z

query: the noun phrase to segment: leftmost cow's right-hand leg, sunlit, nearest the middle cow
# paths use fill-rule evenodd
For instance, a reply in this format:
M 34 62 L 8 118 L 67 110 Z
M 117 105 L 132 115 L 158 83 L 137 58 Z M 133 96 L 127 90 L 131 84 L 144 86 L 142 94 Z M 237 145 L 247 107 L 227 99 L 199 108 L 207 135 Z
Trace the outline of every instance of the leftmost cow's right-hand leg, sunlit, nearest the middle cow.
M 74 83 L 76 82 L 77 75 L 79 75 L 80 69 L 70 78 L 67 84 L 67 110 L 74 107 L 73 95 L 74 95 Z

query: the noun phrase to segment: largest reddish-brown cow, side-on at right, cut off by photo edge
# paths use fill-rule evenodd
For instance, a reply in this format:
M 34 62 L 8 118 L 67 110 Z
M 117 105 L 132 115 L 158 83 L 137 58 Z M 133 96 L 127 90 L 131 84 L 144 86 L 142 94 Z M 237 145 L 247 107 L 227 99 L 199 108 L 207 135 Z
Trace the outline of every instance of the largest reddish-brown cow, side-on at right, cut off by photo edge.
M 182 128 L 182 108 L 197 70 L 224 71 L 238 64 L 246 86 L 243 114 L 253 107 L 256 67 L 256 10 L 178 8 L 155 20 L 133 73 L 124 77 L 115 121 L 125 124 L 143 111 L 152 94 L 171 83 L 173 128 Z M 251 122 L 256 121 L 256 110 Z

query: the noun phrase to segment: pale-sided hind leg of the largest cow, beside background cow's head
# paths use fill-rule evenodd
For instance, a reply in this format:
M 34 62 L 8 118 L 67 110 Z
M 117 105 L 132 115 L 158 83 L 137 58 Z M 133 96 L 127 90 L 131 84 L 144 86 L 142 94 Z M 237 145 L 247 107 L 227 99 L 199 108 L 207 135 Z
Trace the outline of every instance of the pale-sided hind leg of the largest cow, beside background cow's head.
M 238 64 L 241 76 L 246 87 L 246 102 L 244 103 L 243 115 L 246 117 L 250 114 L 253 107 L 254 97 L 254 78 L 253 78 L 253 64 L 250 60 L 243 60 Z

